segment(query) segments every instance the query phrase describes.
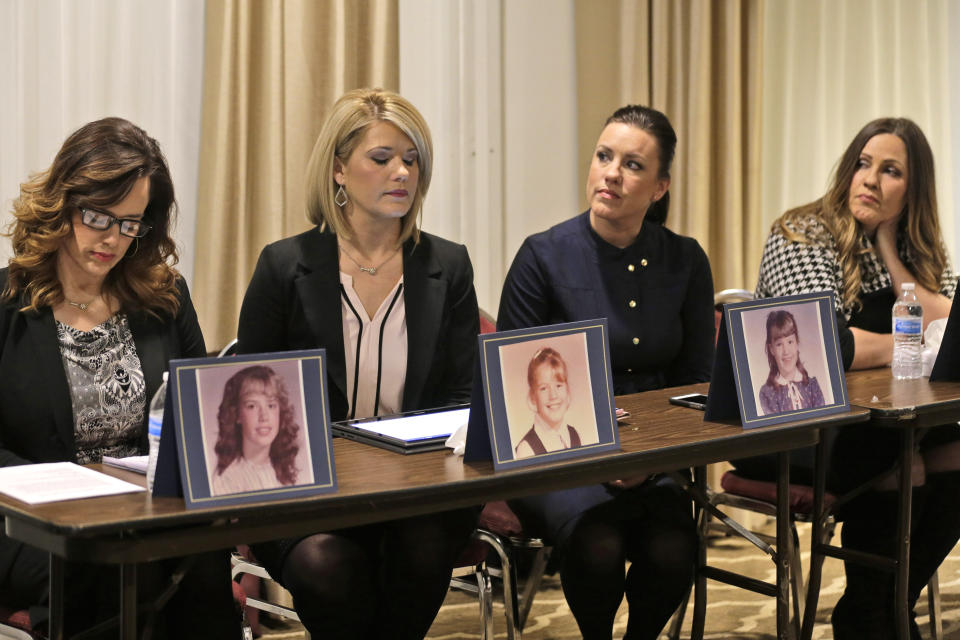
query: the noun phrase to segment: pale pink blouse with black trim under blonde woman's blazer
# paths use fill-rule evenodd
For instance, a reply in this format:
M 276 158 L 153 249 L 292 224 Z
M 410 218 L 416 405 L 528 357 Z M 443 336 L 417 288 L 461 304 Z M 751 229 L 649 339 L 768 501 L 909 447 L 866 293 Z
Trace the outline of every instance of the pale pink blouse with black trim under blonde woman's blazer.
M 353 278 L 340 272 L 343 355 L 349 418 L 399 413 L 407 376 L 407 313 L 403 277 L 370 318 Z

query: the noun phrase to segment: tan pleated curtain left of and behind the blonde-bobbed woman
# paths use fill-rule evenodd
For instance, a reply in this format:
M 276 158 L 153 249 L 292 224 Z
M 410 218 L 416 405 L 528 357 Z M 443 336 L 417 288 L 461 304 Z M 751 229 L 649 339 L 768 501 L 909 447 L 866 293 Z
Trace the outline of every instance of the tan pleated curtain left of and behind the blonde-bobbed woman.
M 194 298 L 236 335 L 264 245 L 308 227 L 303 176 L 344 91 L 398 81 L 397 0 L 207 0 Z

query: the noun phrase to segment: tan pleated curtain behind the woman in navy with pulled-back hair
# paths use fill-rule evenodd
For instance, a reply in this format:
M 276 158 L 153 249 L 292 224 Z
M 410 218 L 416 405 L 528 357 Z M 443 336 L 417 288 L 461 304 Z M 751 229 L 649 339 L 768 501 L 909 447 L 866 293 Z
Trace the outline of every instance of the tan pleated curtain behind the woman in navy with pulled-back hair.
M 760 211 L 762 0 L 578 0 L 581 184 L 603 124 L 626 103 L 677 131 L 667 226 L 696 238 L 717 289 L 752 288 Z M 619 30 L 610 33 L 610 25 Z

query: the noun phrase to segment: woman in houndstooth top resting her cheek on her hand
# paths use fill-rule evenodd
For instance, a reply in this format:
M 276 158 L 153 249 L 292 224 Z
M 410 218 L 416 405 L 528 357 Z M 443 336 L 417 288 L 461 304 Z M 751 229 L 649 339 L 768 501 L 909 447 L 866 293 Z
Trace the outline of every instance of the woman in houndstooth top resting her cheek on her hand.
M 833 291 L 844 367 L 888 366 L 893 353 L 890 313 L 904 282 L 917 284 L 924 324 L 946 317 L 956 281 L 940 224 L 933 153 L 920 128 L 905 118 L 868 123 L 840 159 L 830 190 L 785 213 L 767 239 L 757 297 Z M 846 491 L 889 469 L 896 434 L 869 427 L 843 429 L 833 442 L 828 483 Z M 916 456 L 911 611 L 920 590 L 960 538 L 960 431 L 930 430 Z M 734 462 L 748 477 L 770 477 L 767 460 Z M 809 468 L 797 469 L 803 478 Z M 857 498 L 840 514 L 842 544 L 893 555 L 897 495 L 894 479 Z M 847 585 L 833 612 L 838 640 L 895 637 L 893 574 L 845 563 Z M 920 638 L 915 622 L 911 637 Z

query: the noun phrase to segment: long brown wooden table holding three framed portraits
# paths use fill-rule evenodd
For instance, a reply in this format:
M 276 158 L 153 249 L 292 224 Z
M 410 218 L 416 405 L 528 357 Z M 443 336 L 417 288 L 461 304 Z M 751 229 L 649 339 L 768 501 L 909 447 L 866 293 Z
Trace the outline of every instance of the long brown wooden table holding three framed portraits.
M 62 637 L 63 562 L 79 559 L 121 565 L 121 635 L 133 638 L 137 563 L 533 495 L 627 475 L 785 452 L 815 445 L 821 427 L 866 419 L 865 411 L 852 411 L 744 430 L 738 422 L 704 422 L 702 412 L 667 402 L 671 395 L 706 391 L 707 385 L 700 384 L 617 398 L 617 406 L 631 414 L 621 423 L 621 451 L 563 463 L 494 473 L 489 462 L 464 464 L 461 458 L 446 451 L 403 456 L 338 438 L 334 440 L 338 481 L 335 494 L 192 510 L 184 507 L 182 499 L 152 498 L 145 493 L 32 506 L 0 494 L 0 514 L 6 517 L 8 536 L 51 554 L 51 638 Z M 95 468 L 143 483 L 142 477 L 128 472 Z M 781 495 L 786 513 L 786 492 Z M 786 535 L 785 525 L 778 527 L 782 540 L 786 540 Z M 778 616 L 782 608 L 786 620 L 786 565 L 780 569 L 782 598 L 778 598 L 778 605 L 782 606 L 778 606 Z

